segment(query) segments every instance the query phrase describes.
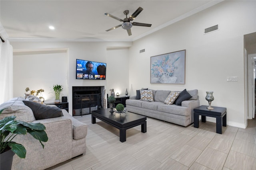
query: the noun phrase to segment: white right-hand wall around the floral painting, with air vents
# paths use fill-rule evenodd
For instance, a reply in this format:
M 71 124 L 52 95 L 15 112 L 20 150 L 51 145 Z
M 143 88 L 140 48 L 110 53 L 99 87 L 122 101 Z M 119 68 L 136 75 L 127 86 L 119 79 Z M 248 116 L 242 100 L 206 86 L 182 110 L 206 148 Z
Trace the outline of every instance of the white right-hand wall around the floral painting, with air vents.
M 214 91 L 212 106 L 227 107 L 229 125 L 245 127 L 244 34 L 256 31 L 256 1 L 224 1 L 133 42 L 130 48 L 130 88 L 198 89 L 200 104 Z M 204 35 L 204 28 L 220 30 Z M 139 54 L 140 49 L 145 53 Z M 186 84 L 150 84 L 150 57 L 186 49 Z M 143 72 L 143 76 L 132 76 Z M 227 82 L 238 76 L 238 82 Z

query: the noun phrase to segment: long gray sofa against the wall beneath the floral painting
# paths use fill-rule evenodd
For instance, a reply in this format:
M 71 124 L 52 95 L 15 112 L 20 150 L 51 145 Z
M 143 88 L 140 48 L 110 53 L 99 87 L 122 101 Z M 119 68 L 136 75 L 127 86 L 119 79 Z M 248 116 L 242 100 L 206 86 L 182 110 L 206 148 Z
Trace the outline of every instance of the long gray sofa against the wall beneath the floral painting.
M 126 100 L 127 110 L 182 126 L 188 126 L 194 122 L 193 109 L 200 106 L 198 90 L 188 90 L 187 92 L 192 98 L 181 102 L 181 106 L 177 106 L 176 104 L 164 104 L 164 101 L 171 91 L 152 91 L 154 102 L 136 100 L 136 96 L 130 96 L 130 99 Z

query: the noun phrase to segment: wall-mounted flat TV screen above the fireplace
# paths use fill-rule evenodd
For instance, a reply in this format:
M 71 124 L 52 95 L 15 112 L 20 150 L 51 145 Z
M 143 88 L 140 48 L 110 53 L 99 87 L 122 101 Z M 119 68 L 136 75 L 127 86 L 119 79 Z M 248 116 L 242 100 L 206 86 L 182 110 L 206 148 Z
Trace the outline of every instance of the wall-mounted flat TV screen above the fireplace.
M 76 79 L 106 80 L 106 63 L 76 59 Z

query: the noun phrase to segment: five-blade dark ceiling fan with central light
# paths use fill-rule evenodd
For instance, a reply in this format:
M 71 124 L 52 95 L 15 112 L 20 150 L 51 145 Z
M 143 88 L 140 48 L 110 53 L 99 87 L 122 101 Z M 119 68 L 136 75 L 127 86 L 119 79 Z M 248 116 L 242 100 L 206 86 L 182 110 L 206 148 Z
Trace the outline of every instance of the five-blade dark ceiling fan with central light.
M 142 10 L 143 10 L 143 8 L 139 7 L 129 18 L 127 18 L 127 15 L 129 14 L 129 10 L 125 10 L 124 15 L 126 15 L 126 18 L 124 18 L 124 20 L 122 20 L 118 17 L 112 16 L 111 14 L 105 13 L 106 16 L 109 16 L 109 17 L 114 18 L 118 21 L 124 22 L 120 25 L 117 25 L 115 27 L 107 29 L 106 31 L 110 31 L 112 29 L 116 29 L 116 28 L 122 26 L 123 29 L 127 30 L 127 33 L 130 36 L 130 35 L 132 35 L 131 28 L 132 28 L 133 25 L 134 26 L 142 26 L 142 27 L 151 27 L 152 24 L 148 24 L 148 23 L 130 22 L 130 21 L 133 21 L 136 18 L 136 16 L 138 16 L 140 14 L 140 12 L 142 12 Z

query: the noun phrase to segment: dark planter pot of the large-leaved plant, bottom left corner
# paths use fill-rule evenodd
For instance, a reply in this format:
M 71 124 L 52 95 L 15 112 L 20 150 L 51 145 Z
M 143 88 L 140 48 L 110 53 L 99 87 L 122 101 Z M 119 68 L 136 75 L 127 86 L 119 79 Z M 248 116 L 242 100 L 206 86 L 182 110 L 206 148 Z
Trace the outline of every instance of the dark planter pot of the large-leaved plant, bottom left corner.
M 14 152 L 12 150 L 8 150 L 4 153 L 0 154 L 1 159 L 1 170 L 11 170 L 12 169 L 12 158 L 14 156 Z

